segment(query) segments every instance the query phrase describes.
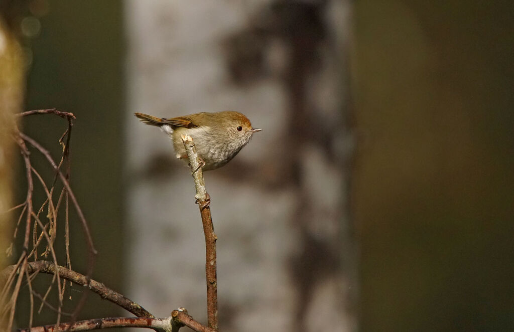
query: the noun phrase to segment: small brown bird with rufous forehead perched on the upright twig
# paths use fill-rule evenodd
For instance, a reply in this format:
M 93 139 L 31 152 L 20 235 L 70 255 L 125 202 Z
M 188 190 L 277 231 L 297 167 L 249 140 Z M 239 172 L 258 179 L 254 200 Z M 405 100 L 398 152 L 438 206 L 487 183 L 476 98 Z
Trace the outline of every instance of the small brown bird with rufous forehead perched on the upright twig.
M 176 156 L 188 160 L 181 135 L 189 135 L 203 161 L 204 171 L 214 170 L 229 162 L 243 149 L 252 135 L 262 129 L 252 128 L 248 118 L 237 112 L 195 113 L 171 119 L 135 113 L 142 122 L 160 127 L 173 142 Z

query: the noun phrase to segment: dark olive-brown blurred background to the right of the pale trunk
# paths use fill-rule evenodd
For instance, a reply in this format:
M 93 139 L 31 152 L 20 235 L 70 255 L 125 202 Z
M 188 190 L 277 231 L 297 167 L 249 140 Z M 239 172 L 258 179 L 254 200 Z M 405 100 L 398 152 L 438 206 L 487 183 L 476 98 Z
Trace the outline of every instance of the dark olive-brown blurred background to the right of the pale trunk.
M 355 3 L 363 331 L 513 326 L 512 9 Z

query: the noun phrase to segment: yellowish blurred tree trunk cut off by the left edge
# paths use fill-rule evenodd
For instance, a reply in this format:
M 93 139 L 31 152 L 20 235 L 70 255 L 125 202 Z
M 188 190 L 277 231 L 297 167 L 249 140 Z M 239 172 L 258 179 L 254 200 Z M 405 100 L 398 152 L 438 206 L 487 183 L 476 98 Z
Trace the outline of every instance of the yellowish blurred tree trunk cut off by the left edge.
M 0 17 L 0 270 L 7 264 L 6 249 L 11 242 L 12 218 L 4 213 L 12 206 L 14 141 L 13 114 L 22 108 L 24 89 L 23 57 L 20 45 L 3 17 Z M 3 304 L 0 303 L 0 307 Z M 0 322 L 3 326 L 4 322 Z

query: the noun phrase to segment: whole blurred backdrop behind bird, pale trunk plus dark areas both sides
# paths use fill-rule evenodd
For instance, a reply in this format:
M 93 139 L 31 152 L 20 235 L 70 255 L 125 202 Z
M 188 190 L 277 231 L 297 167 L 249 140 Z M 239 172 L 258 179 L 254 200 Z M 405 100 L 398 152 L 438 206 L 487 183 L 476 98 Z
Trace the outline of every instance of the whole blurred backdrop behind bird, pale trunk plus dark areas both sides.
M 263 132 L 206 173 L 222 330 L 514 326 L 510 2 L 26 4 L 25 108 L 77 116 L 94 279 L 205 322 L 189 171 L 132 113 L 234 109 Z M 59 120 L 24 131 L 57 145 Z M 81 318 L 119 315 L 91 295 Z

